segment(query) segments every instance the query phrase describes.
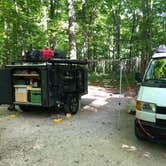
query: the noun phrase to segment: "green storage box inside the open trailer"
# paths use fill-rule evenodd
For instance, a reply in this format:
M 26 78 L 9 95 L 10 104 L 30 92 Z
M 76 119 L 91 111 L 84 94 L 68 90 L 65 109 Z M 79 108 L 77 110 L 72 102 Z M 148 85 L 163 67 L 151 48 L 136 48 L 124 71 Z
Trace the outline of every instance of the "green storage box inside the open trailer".
M 41 89 L 32 88 L 29 92 L 30 92 L 30 102 L 40 104 L 41 103 Z

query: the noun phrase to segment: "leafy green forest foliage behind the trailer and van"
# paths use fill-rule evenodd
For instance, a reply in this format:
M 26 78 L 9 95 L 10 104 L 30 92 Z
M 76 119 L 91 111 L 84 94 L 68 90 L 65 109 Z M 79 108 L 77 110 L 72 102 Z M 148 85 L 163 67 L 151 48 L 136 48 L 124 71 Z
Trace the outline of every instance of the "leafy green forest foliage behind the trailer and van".
M 0 0 L 0 64 L 14 61 L 31 47 L 41 49 L 47 42 L 69 53 L 67 0 L 53 2 L 51 6 L 51 1 Z M 77 58 L 109 59 L 110 52 L 115 59 L 144 58 L 152 48 L 165 44 L 164 0 L 78 0 L 74 7 Z

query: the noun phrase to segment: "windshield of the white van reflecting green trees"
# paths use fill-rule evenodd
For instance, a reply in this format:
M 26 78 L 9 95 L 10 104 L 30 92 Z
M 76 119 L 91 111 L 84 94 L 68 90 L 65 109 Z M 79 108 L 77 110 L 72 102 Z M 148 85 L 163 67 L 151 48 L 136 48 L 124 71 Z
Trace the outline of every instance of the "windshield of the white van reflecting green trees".
M 144 82 L 149 84 L 165 83 L 166 85 L 166 58 L 151 61 Z

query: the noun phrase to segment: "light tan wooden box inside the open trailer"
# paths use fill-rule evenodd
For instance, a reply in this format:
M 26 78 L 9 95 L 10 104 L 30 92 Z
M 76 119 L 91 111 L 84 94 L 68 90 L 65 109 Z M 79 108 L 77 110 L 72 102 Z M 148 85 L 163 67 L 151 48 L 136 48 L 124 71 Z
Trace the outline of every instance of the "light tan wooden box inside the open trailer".
M 28 102 L 28 91 L 26 85 L 15 85 L 15 101 Z

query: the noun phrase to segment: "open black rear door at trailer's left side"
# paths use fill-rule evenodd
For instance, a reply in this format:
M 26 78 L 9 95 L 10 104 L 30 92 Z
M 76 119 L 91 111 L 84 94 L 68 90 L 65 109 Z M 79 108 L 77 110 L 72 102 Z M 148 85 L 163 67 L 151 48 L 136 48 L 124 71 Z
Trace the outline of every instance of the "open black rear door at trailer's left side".
M 12 103 L 11 70 L 0 69 L 0 104 Z

